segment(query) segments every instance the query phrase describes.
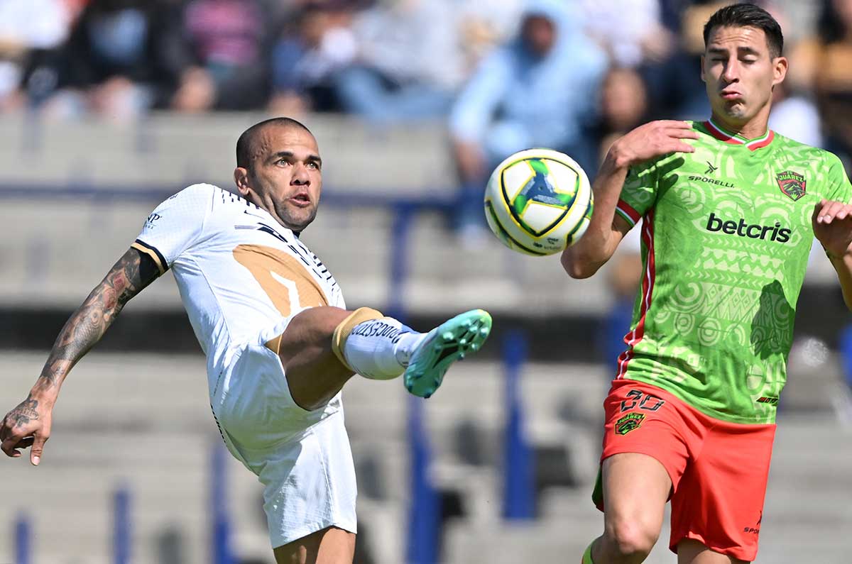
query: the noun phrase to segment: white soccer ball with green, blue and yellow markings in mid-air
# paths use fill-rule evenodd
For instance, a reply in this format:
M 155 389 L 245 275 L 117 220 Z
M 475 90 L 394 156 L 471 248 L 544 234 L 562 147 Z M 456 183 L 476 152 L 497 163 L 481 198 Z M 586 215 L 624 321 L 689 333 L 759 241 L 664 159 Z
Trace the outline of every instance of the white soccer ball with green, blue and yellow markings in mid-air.
M 527 255 L 567 249 L 589 227 L 589 178 L 566 154 L 527 149 L 498 165 L 485 190 L 488 227 L 500 241 Z

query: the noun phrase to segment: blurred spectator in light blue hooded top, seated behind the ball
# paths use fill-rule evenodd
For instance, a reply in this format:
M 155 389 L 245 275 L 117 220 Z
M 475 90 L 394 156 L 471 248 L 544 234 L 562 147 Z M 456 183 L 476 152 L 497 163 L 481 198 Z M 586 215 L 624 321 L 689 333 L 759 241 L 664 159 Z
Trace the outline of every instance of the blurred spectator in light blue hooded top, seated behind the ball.
M 607 57 L 577 16 L 558 0 L 530 3 L 519 36 L 482 61 L 452 108 L 462 181 L 458 227 L 470 234 L 484 224 L 487 176 L 510 153 L 550 147 L 594 170 L 594 147 L 582 131 L 594 118 Z

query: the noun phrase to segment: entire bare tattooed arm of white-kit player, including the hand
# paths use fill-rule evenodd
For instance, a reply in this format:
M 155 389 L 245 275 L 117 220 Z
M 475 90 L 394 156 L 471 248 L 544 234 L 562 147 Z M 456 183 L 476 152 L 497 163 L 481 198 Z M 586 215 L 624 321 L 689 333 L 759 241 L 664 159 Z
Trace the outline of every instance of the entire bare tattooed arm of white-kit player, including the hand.
M 30 461 L 37 464 L 50 436 L 50 419 L 62 382 L 95 343 L 101 340 L 112 321 L 130 298 L 159 276 L 150 256 L 129 249 L 95 286 L 56 337 L 41 375 L 26 396 L 3 419 L 0 426 L 2 449 L 9 457 L 20 457 L 20 448 L 32 446 Z

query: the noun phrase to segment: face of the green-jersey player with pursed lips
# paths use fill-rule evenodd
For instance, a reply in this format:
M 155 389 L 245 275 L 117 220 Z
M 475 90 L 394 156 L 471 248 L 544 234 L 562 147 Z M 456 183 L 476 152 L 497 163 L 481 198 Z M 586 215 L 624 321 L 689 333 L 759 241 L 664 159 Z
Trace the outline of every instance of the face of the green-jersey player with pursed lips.
M 772 57 L 766 34 L 757 27 L 716 27 L 701 57 L 701 79 L 713 113 L 743 125 L 769 116 L 772 88 L 784 80 L 787 61 Z

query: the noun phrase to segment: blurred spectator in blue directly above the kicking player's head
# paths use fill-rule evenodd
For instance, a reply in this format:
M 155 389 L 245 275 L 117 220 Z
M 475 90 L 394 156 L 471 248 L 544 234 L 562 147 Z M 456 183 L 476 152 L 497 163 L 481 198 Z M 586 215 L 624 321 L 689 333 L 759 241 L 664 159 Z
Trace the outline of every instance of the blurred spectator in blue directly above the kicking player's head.
M 339 111 L 332 78 L 355 56 L 352 9 L 343 0 L 308 3 L 287 18 L 272 50 L 274 112 Z

